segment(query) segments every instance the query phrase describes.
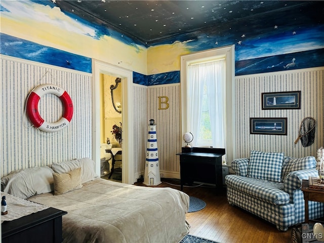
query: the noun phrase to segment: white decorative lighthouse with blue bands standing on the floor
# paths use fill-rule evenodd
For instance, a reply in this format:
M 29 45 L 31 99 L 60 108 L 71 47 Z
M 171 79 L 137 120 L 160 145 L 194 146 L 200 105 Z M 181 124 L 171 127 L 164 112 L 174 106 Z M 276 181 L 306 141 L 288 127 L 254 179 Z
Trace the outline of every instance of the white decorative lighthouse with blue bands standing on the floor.
M 153 119 L 150 119 L 147 135 L 146 146 L 146 163 L 143 184 L 148 186 L 156 186 L 161 184 L 160 169 L 158 167 L 156 125 Z

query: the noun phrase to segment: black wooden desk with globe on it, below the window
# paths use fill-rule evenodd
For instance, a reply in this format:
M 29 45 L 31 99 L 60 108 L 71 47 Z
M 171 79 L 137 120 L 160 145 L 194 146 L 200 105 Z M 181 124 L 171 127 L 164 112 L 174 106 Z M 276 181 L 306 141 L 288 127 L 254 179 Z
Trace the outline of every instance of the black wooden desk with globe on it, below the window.
M 223 186 L 222 156 L 224 148 L 193 147 L 190 152 L 177 153 L 180 156 L 180 181 L 183 185 L 194 181 Z

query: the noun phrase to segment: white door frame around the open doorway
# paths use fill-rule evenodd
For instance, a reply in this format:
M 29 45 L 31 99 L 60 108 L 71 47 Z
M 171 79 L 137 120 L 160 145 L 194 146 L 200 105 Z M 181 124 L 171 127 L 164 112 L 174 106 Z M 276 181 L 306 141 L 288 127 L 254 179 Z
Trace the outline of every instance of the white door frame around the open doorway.
M 134 183 L 134 119 L 133 119 L 133 72 L 99 60 L 93 60 L 93 138 L 92 138 L 92 159 L 96 164 L 96 173 L 100 175 L 100 74 L 118 76 L 122 79 L 122 104 L 123 113 L 121 122 L 123 124 L 123 170 L 122 182 Z

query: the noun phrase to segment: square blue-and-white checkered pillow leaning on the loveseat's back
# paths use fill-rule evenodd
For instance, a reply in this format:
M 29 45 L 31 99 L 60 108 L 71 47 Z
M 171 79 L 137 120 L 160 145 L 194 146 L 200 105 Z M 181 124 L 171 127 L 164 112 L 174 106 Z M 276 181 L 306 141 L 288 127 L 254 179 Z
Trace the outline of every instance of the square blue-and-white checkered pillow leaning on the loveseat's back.
M 251 151 L 247 177 L 281 182 L 281 168 L 284 153 Z

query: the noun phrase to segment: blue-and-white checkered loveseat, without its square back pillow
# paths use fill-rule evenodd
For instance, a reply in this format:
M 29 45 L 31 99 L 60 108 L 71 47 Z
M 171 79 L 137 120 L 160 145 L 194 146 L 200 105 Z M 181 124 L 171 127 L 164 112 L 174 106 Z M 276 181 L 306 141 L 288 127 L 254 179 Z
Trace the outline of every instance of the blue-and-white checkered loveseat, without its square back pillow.
M 227 200 L 286 231 L 305 220 L 304 195 L 300 188 L 303 179 L 318 176 L 314 160 L 314 157 L 284 157 L 282 173 L 287 175 L 282 182 L 274 182 L 247 177 L 250 159 L 234 159 L 231 166 L 235 175 L 225 177 Z M 308 207 L 310 219 L 324 216 L 323 203 L 309 201 Z

